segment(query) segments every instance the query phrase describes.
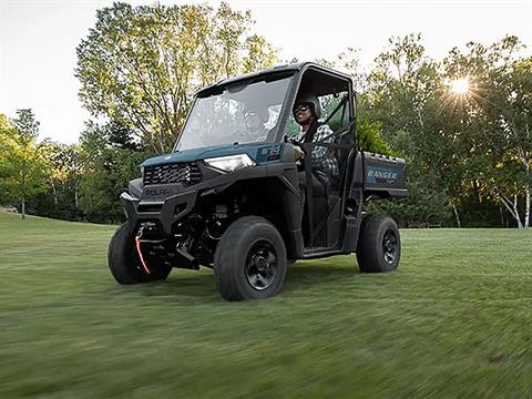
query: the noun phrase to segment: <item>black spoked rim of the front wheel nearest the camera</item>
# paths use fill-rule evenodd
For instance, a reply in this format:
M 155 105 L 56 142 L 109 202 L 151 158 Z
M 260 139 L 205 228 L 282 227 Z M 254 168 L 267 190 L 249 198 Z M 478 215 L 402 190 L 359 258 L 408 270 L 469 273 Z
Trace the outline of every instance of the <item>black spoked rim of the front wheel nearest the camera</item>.
M 277 253 L 274 246 L 266 241 L 253 244 L 246 258 L 246 278 L 252 288 L 267 289 L 274 284 L 277 272 Z

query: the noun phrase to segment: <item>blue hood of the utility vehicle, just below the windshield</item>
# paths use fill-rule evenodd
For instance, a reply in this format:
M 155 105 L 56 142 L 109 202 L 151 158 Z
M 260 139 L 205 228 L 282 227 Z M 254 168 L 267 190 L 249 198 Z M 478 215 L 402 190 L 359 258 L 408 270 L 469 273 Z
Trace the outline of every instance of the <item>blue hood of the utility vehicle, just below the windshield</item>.
M 247 154 L 252 160 L 257 164 L 266 160 L 266 152 L 272 153 L 272 149 L 276 146 L 277 153 L 280 153 L 283 147 L 282 143 L 247 143 L 247 144 L 225 144 L 225 145 L 215 145 L 198 147 L 185 151 L 177 151 L 174 153 L 158 155 L 151 157 L 144 161 L 141 166 L 156 166 L 168 163 L 178 163 L 178 162 L 194 162 L 209 157 L 216 156 L 226 156 L 226 155 L 236 155 L 236 154 Z

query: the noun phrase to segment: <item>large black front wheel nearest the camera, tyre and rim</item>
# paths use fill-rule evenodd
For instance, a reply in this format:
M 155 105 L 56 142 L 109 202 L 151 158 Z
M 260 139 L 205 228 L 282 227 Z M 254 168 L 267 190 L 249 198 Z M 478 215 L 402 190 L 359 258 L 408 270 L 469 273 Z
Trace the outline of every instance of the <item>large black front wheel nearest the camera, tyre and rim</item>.
M 285 276 L 285 243 L 272 223 L 245 216 L 227 228 L 214 255 L 214 279 L 224 299 L 274 296 L 283 287 Z

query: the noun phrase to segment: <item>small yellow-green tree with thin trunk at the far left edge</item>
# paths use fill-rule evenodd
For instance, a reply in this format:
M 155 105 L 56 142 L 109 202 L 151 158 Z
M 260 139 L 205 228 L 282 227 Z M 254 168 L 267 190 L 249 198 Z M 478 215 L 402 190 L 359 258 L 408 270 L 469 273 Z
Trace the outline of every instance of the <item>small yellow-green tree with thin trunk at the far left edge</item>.
M 45 142 L 38 143 L 39 122 L 31 110 L 18 110 L 0 129 L 0 173 L 7 198 L 20 202 L 25 218 L 27 200 L 45 190 Z

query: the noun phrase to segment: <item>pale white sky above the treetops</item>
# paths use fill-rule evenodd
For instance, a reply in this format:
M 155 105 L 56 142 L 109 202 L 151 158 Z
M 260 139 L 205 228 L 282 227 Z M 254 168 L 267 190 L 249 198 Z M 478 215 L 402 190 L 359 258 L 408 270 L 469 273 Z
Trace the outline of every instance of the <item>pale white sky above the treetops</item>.
M 127 1 L 133 4 L 153 1 Z M 209 3 L 217 1 L 160 1 Z M 489 45 L 518 35 L 532 51 L 532 0 L 228 0 L 250 10 L 254 31 L 282 60 L 335 59 L 348 47 L 370 68 L 392 35 L 420 32 L 428 55 L 441 60 L 469 41 Z M 90 115 L 78 99 L 75 48 L 108 0 L 0 0 L 0 113 L 33 109 L 40 136 L 75 143 Z

